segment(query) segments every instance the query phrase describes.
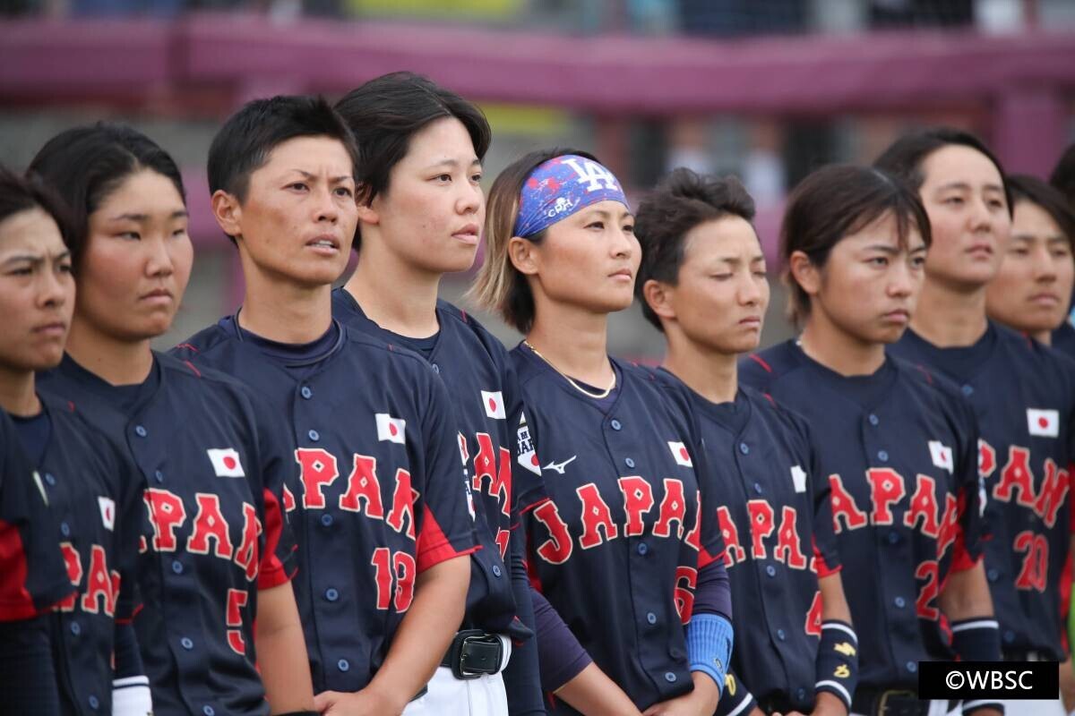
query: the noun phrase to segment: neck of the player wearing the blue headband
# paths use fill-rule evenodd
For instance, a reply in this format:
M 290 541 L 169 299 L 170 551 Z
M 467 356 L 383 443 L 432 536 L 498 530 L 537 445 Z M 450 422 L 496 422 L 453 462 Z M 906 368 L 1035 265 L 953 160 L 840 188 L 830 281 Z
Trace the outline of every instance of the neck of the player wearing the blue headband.
M 612 383 L 607 315 L 539 305 L 535 316 L 527 341 L 554 368 L 596 388 Z

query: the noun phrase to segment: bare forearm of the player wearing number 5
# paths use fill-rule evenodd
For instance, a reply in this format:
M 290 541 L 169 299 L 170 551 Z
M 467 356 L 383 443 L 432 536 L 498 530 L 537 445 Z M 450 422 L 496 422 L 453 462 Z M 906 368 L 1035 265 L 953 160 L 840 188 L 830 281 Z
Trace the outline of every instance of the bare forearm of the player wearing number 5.
M 254 643 L 270 713 L 314 707 L 306 643 L 291 583 L 258 591 Z

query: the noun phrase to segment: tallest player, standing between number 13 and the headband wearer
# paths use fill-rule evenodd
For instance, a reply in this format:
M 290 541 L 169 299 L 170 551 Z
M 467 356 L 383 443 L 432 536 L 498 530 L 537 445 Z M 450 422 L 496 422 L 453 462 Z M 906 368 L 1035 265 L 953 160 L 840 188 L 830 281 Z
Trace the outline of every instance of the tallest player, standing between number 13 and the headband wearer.
M 465 658 L 464 643 L 446 656 L 430 691 L 443 680 L 447 689 L 481 691 L 472 702 L 489 716 L 544 714 L 525 535 L 514 530 L 520 514 L 544 499 L 540 461 L 507 352 L 472 316 L 436 299 L 443 274 L 474 263 L 489 125 L 467 100 L 407 72 L 368 82 L 336 109 L 363 159 L 360 260 L 333 293 L 333 315 L 419 353 L 448 389 L 482 545 L 471 555 L 459 639 L 512 642 L 502 676 L 454 663 Z

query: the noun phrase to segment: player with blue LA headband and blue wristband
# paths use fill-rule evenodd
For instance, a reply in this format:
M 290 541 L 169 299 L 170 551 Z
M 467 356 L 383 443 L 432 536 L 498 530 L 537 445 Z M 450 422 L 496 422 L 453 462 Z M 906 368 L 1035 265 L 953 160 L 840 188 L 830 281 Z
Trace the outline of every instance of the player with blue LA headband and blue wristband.
M 699 494 L 705 458 L 655 377 L 605 352 L 608 313 L 631 304 L 632 232 L 605 166 L 531 152 L 492 186 L 475 292 L 527 336 L 511 355 L 550 498 L 525 517 L 528 564 L 577 640 L 542 633 L 543 672 L 580 646 L 635 708 L 712 714 L 732 630 L 715 507 Z M 550 712 L 633 711 L 592 708 L 579 677 L 545 684 Z

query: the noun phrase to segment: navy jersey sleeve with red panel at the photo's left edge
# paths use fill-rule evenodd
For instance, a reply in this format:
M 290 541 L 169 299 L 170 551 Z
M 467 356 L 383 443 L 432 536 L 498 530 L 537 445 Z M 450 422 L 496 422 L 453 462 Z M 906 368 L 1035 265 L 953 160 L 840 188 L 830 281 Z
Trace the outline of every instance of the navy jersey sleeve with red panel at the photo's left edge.
M 43 614 L 74 591 L 42 480 L 0 410 L 0 622 Z

